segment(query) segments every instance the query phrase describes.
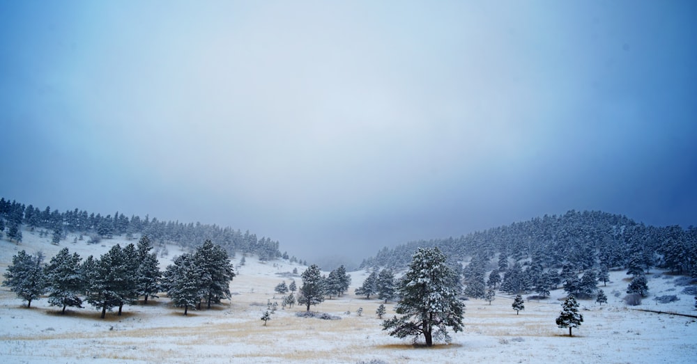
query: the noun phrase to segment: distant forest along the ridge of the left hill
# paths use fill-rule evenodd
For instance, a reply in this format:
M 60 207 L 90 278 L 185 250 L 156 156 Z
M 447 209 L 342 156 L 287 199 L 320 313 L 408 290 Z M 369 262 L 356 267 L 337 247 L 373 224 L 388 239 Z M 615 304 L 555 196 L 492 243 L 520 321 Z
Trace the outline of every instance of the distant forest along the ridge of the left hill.
M 144 235 L 152 242 L 172 243 L 187 248 L 197 248 L 210 240 L 222 246 L 231 257 L 235 253 L 257 254 L 260 260 L 289 259 L 300 262 L 296 257 L 279 251 L 279 243 L 268 237 L 257 238 L 249 230 L 240 232 L 233 228 L 221 228 L 217 225 L 201 223 L 180 223 L 179 221 L 159 221 L 146 215 L 125 216 L 116 212 L 114 216 L 95 214 L 84 210 L 59 212 L 51 207 L 39 209 L 32 205 L 25 206 L 14 200 L 10 202 L 0 198 L 0 232 L 6 230 L 10 240 L 22 241 L 21 225 L 31 229 L 43 229 L 51 236 L 54 244 L 60 244 L 68 233 L 86 235 L 88 243 L 96 243 L 100 239 L 110 239 L 115 235 L 123 235 L 126 239 L 135 239 L 136 235 Z M 44 231 L 42 231 L 43 233 Z

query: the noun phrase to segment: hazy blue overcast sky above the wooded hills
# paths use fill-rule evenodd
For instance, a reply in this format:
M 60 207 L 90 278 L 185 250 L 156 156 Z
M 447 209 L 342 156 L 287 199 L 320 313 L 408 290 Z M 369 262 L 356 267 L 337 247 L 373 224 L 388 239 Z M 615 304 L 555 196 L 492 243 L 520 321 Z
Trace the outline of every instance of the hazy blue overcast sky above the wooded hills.
M 0 196 L 306 260 L 697 225 L 694 1 L 0 0 Z

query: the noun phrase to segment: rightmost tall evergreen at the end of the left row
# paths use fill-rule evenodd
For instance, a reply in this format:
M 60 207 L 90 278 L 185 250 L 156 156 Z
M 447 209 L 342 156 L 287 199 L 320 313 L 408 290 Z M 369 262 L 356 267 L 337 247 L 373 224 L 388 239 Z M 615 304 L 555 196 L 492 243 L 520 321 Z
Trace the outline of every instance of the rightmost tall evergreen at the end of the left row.
M 201 298 L 206 300 L 208 308 L 211 303 L 220 303 L 222 299 L 231 299 L 230 281 L 235 276 L 227 251 L 220 245 L 206 240 L 204 245 L 194 253 L 195 264 L 199 268 Z

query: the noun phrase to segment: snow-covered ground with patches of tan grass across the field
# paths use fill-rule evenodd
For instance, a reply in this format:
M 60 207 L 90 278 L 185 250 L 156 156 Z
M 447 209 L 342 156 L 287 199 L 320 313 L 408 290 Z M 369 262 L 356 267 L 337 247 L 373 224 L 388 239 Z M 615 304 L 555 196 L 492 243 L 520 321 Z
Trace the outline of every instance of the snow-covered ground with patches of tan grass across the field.
M 23 234 L 20 245 L 0 240 L 0 273 L 22 249 L 43 251 L 49 260 L 63 246 L 86 258 L 105 253 L 113 244 L 128 244 L 116 238 L 88 246 L 74 244 L 69 237 L 54 246 L 50 237 L 26 230 Z M 176 246 L 167 250 L 168 255 L 160 257 L 162 269 L 181 254 Z M 234 260 L 236 265 L 240 258 Z M 675 286 L 677 277 L 658 269 L 648 276 L 650 296 L 634 308 L 622 302 L 628 284 L 625 272 L 611 272 L 611 282 L 601 285 L 608 304 L 579 301 L 584 322 L 571 338 L 567 329 L 554 323 L 564 293 L 555 290 L 551 299 L 526 301 L 520 315 L 512 309 L 510 296 L 496 296 L 491 305 L 467 301 L 464 332 L 454 333 L 450 345 L 423 348 L 381 331 L 381 320 L 374 314 L 381 302 L 353 294 L 367 276 L 364 271 L 351 272 L 349 294 L 314 307 L 342 319 L 299 318 L 295 312 L 305 308 L 295 306 L 279 309 L 263 326 L 266 302 L 277 299 L 280 304 L 273 288 L 281 280 L 290 283 L 284 273 L 295 267 L 299 272 L 305 269 L 247 257 L 231 283 L 231 302 L 211 310 L 190 310 L 187 317 L 167 298 L 126 306 L 123 315 L 109 312 L 105 319 L 91 306 L 61 315 L 46 299 L 24 308 L 8 287 L 2 287 L 0 357 L 5 363 L 694 363 L 697 358 L 697 319 L 634 310 L 697 315 L 694 297 L 681 294 L 684 287 Z M 295 280 L 300 285 L 300 277 Z M 677 294 L 680 301 L 653 300 L 664 294 Z M 393 304 L 386 306 L 392 315 Z M 361 317 L 355 313 L 359 307 Z

